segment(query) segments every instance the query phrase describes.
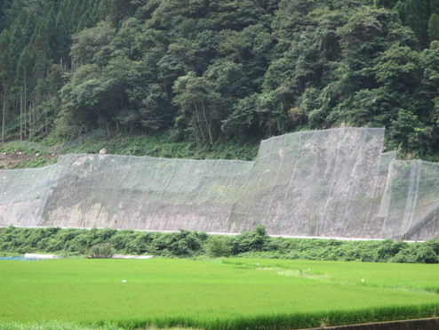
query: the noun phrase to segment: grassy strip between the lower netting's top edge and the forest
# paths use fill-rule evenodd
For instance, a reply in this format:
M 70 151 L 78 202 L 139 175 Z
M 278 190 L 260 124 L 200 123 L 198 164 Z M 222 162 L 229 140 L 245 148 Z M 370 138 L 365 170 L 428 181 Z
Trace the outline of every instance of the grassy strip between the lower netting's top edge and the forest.
M 258 153 L 259 143 L 259 140 L 250 140 L 201 144 L 176 140 L 169 133 L 120 133 L 111 138 L 107 134 L 97 134 L 58 145 L 11 141 L 0 146 L 0 169 L 42 167 L 55 163 L 59 154 L 97 154 L 100 149 L 107 149 L 113 155 L 252 160 Z

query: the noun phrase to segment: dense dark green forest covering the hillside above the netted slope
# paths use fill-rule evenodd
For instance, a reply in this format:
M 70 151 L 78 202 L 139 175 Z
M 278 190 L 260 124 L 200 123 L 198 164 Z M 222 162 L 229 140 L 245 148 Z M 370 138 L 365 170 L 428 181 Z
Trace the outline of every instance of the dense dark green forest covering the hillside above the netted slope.
M 339 125 L 439 155 L 439 0 L 0 0 L 2 141 Z

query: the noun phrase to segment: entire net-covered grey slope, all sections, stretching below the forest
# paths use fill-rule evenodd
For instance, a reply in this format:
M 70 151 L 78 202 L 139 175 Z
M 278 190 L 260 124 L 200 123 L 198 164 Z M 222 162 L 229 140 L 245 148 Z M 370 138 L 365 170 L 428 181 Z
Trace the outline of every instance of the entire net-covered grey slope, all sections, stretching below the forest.
M 262 141 L 254 162 L 65 155 L 0 171 L 0 226 L 439 237 L 439 165 L 381 153 L 384 129 Z

